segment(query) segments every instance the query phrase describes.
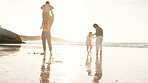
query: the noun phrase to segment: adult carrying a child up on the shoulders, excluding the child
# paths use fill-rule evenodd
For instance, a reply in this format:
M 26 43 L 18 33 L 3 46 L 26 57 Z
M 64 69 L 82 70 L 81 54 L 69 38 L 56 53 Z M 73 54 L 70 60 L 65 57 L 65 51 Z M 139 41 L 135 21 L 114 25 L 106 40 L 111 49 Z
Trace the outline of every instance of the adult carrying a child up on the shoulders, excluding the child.
M 50 34 L 50 29 L 54 21 L 54 14 L 52 11 L 51 11 L 51 15 L 52 16 L 49 15 L 49 17 L 43 22 L 42 27 L 41 27 L 42 44 L 43 44 L 43 50 L 44 50 L 43 55 L 46 54 L 46 40 L 48 42 L 50 54 L 52 54 L 51 34 Z

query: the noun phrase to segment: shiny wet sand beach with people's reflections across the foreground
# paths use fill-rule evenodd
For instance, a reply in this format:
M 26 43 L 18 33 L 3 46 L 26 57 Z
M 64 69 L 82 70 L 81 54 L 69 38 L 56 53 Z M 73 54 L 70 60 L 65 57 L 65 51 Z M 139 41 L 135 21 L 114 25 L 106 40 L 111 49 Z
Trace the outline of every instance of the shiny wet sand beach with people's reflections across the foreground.
M 0 83 L 147 83 L 148 48 L 53 44 L 52 56 L 42 44 L 1 44 Z

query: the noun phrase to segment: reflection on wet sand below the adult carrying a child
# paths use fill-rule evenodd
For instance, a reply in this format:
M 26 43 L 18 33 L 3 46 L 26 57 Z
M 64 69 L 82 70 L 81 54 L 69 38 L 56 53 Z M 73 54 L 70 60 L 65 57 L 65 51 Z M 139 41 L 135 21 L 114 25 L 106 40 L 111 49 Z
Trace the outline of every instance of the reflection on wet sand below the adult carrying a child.
M 49 78 L 50 78 L 51 58 L 52 56 L 50 56 L 49 63 L 47 64 L 46 67 L 46 56 L 44 55 L 41 74 L 40 74 L 40 83 L 50 83 Z

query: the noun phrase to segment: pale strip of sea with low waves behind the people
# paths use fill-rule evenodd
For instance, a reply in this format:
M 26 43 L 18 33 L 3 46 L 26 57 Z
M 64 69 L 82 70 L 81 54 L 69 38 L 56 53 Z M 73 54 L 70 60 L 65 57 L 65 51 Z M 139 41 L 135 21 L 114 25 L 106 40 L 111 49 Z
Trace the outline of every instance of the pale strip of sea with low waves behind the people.
M 26 41 L 24 44 L 17 45 L 29 45 L 29 46 L 40 46 L 42 41 Z M 10 44 L 0 44 L 1 45 L 10 45 Z M 16 45 L 16 44 L 11 44 Z M 85 42 L 52 42 L 52 45 L 77 45 L 77 46 L 86 46 Z M 95 46 L 95 42 L 93 42 Z M 104 47 L 130 47 L 130 48 L 148 48 L 148 43 L 135 43 L 135 42 L 103 42 Z

